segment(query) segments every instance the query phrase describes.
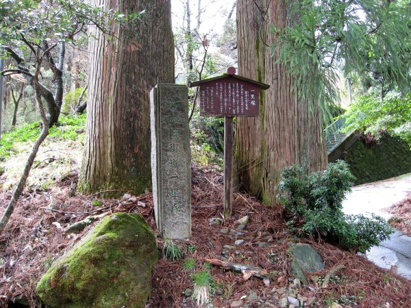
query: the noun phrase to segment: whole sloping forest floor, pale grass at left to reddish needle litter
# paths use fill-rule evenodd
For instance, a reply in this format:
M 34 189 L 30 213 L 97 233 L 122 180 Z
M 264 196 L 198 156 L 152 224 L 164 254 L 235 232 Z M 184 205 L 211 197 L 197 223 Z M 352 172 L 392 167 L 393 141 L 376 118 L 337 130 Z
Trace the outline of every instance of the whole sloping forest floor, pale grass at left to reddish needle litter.
M 84 140 L 84 118 L 66 118 L 42 145 L 14 214 L 0 235 L 0 307 L 39 307 L 36 283 L 51 263 L 68 251 L 97 222 L 79 231 L 64 229 L 90 215 L 117 211 L 140 213 L 158 234 L 151 194 L 120 199 L 86 196 L 76 191 Z M 27 152 L 38 128 L 23 127 L 3 136 L 0 156 L 0 213 L 10 200 Z M 21 142 L 16 142 L 19 138 Z M 5 142 L 5 143 L 3 143 Z M 206 259 L 260 266 L 269 280 L 243 279 L 241 273 L 212 266 L 209 307 L 280 307 L 289 295 L 305 307 L 411 307 L 411 282 L 382 270 L 361 255 L 341 251 L 321 241 L 300 240 L 288 232 L 283 209 L 267 207 L 247 194 L 234 194 L 232 219 L 221 219 L 223 175 L 216 166 L 192 167 L 192 237 L 175 242 L 184 257 L 160 257 L 151 280 L 147 307 L 195 307 L 192 272 L 208 268 Z M 242 229 L 238 218 L 249 216 Z M 159 254 L 164 245 L 157 237 Z M 236 241 L 237 244 L 236 244 Z M 318 251 L 325 269 L 311 273 L 309 285 L 295 283 L 290 274 L 290 244 L 304 242 Z M 194 268 L 188 268 L 194 261 Z M 334 266 L 345 266 L 322 285 Z M 16 303 L 10 302 L 15 300 Z M 333 306 L 334 305 L 334 306 Z M 340 305 L 340 306 L 339 306 Z M 205 306 L 207 307 L 207 306 Z

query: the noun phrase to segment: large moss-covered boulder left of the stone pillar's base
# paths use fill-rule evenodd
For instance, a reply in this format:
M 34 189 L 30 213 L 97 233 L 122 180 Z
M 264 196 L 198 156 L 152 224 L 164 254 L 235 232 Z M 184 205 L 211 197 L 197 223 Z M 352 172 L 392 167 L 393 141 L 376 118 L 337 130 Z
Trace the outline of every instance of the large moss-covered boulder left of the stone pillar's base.
M 37 292 L 47 307 L 145 307 L 157 260 L 142 216 L 116 213 L 56 260 Z

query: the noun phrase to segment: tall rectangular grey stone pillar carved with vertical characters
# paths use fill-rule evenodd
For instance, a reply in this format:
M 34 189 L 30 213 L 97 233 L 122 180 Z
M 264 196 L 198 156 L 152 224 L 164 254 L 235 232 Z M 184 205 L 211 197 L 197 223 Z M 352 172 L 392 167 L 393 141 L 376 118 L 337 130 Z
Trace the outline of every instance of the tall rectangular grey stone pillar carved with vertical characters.
M 150 105 L 155 221 L 164 238 L 188 238 L 191 153 L 187 87 L 158 84 L 151 90 Z

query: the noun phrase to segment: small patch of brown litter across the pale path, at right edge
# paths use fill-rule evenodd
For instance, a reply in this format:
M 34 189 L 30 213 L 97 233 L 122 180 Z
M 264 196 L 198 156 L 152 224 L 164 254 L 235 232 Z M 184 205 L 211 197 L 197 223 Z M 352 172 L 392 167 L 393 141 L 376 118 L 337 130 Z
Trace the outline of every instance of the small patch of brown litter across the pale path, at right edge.
M 402 233 L 411 236 L 411 196 L 389 207 L 386 211 L 394 214 L 388 223 Z

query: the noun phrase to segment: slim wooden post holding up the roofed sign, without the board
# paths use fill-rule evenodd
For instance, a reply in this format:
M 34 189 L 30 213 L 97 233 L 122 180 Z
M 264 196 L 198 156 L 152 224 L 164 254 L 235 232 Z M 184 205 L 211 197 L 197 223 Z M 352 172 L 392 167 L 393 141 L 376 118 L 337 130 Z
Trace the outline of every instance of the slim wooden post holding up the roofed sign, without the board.
M 232 216 L 233 117 L 224 118 L 224 218 Z

